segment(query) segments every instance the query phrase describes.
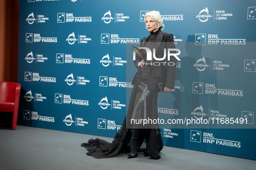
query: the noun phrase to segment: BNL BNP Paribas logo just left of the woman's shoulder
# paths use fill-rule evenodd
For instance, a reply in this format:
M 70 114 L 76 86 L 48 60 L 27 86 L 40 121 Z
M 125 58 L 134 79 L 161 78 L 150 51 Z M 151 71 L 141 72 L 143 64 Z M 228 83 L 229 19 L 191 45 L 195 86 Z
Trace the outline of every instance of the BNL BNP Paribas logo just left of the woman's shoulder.
M 101 34 L 100 44 L 139 44 L 139 38 L 120 38 L 118 34 Z

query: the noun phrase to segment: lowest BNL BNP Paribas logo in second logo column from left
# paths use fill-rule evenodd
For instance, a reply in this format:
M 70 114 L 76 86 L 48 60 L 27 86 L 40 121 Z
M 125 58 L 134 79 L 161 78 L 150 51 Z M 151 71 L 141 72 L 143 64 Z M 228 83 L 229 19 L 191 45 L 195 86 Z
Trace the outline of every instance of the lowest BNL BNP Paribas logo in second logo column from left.
M 63 96 L 63 98 L 62 98 Z M 63 99 L 63 102 L 62 102 Z M 86 100 L 79 100 L 79 99 L 72 99 L 71 95 L 68 94 L 58 94 L 55 93 L 55 101 L 54 103 L 58 104 L 74 104 L 74 105 L 81 105 L 81 106 L 89 106 L 89 101 Z

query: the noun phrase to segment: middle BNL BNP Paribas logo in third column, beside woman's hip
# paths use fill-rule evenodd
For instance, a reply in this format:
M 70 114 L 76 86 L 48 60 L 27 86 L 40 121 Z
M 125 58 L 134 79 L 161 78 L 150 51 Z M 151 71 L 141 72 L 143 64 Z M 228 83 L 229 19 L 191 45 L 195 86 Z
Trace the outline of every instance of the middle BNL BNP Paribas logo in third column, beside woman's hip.
M 102 87 L 120 87 L 120 88 L 133 88 L 132 83 L 119 82 L 116 77 L 100 76 L 99 86 Z

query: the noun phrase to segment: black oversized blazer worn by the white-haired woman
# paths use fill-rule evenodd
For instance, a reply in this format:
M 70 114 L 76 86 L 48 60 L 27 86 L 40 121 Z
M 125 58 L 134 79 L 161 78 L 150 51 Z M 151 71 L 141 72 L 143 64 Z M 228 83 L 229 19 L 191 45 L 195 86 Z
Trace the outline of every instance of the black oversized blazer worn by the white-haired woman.
M 140 44 L 139 47 L 144 47 L 146 42 L 148 41 L 149 36 L 144 37 Z M 165 43 L 169 42 L 169 43 Z M 149 79 L 148 79 L 148 88 L 149 90 L 158 90 L 157 84 L 158 83 L 164 83 L 165 87 L 168 88 L 174 88 L 174 82 L 175 82 L 175 72 L 176 72 L 176 58 L 174 56 L 170 57 L 170 60 L 167 60 L 167 49 L 168 48 L 175 48 L 175 45 L 173 43 L 173 35 L 167 32 L 162 32 L 159 31 L 159 33 L 156 36 L 156 41 L 154 42 L 153 48 L 156 49 L 156 57 L 157 58 L 162 58 L 164 56 L 164 48 L 166 49 L 166 57 L 165 60 L 155 60 L 152 57 L 152 63 L 154 62 L 173 62 L 175 63 L 174 66 L 169 66 L 166 63 L 161 63 L 159 66 L 155 66 L 152 64 L 150 71 L 149 71 Z M 152 51 L 153 53 L 153 51 Z M 172 52 L 176 53 L 176 52 Z M 134 60 L 135 66 L 137 69 L 139 69 L 138 63 L 141 60 L 145 60 L 146 56 L 140 57 L 138 54 L 136 54 L 136 60 Z M 145 60 L 146 61 L 146 60 Z M 137 74 L 137 73 L 136 73 Z M 133 79 L 134 83 L 134 79 Z M 132 84 L 133 84 L 132 83 Z

